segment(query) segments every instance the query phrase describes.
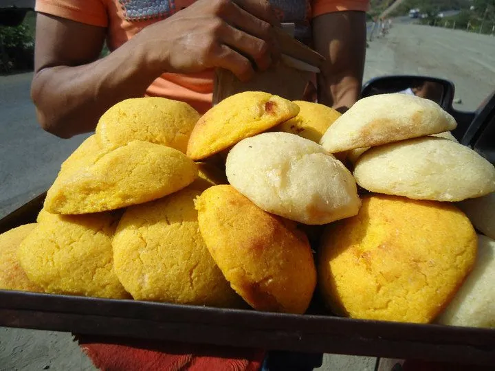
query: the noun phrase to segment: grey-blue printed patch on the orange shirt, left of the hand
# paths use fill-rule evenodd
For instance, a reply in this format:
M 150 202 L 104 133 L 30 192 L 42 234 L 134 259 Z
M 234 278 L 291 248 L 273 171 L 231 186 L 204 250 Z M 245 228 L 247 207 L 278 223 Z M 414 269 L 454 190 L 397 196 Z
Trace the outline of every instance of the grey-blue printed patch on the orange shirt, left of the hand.
M 119 0 L 126 21 L 162 19 L 175 13 L 175 0 Z

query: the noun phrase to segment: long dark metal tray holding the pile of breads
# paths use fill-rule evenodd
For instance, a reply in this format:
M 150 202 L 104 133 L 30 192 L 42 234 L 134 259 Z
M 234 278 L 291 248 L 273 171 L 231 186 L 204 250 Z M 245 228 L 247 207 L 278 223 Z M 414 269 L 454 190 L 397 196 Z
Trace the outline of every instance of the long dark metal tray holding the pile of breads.
M 0 221 L 32 223 L 41 194 Z M 493 366 L 495 330 L 334 317 L 315 298 L 307 315 L 0 290 L 0 326 L 81 335 L 425 359 Z

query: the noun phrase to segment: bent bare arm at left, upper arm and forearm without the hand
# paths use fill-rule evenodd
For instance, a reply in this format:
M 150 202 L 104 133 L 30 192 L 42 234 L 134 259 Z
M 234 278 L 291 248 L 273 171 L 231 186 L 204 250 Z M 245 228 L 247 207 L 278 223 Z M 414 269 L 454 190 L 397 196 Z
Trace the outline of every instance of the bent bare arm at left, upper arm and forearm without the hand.
M 143 96 L 157 77 L 131 42 L 98 60 L 105 34 L 103 27 L 38 14 L 31 95 L 46 131 L 65 138 L 93 131 L 104 111 Z

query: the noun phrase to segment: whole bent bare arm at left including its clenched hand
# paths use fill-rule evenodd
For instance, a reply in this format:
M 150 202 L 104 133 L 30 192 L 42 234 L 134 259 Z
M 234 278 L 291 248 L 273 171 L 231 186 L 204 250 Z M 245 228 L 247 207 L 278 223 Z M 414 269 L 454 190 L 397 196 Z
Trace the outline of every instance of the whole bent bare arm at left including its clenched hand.
M 39 14 L 31 88 L 39 122 L 59 137 L 93 131 L 110 106 L 143 96 L 167 71 L 222 67 L 247 80 L 250 59 L 264 70 L 276 58 L 276 22 L 267 1 L 199 0 L 98 59 L 104 27 Z

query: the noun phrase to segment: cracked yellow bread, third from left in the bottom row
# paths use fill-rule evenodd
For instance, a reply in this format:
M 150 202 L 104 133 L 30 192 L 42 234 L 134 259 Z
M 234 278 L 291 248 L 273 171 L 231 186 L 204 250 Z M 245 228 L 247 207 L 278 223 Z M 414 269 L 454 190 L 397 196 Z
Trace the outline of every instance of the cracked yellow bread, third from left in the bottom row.
M 115 273 L 136 300 L 239 307 L 201 237 L 189 186 L 129 207 L 113 238 Z

